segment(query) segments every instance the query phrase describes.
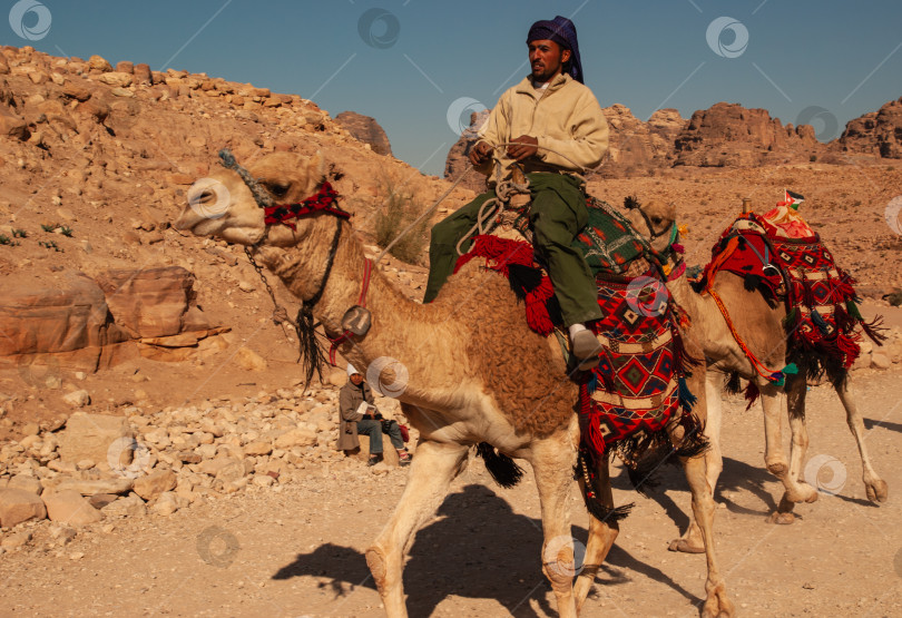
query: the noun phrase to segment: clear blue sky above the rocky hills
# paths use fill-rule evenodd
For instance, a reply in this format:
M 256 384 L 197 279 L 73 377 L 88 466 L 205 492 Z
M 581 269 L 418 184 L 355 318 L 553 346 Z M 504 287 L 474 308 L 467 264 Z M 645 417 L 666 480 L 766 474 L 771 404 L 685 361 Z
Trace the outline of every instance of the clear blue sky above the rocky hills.
M 14 19 L 22 2 L 37 7 L 24 13 L 24 29 Z M 660 107 L 688 118 L 729 101 L 766 108 L 784 124 L 808 119 L 829 140 L 902 96 L 899 0 L 3 4 L 13 14 L 0 23 L 3 45 L 203 71 L 298 94 L 333 116 L 354 110 L 376 118 L 395 156 L 429 174 L 443 169 L 457 117 L 491 107 L 527 75 L 526 32 L 555 14 L 576 22 L 586 84 L 599 102 L 626 105 L 641 120 Z M 36 30 L 40 4 L 49 30 Z

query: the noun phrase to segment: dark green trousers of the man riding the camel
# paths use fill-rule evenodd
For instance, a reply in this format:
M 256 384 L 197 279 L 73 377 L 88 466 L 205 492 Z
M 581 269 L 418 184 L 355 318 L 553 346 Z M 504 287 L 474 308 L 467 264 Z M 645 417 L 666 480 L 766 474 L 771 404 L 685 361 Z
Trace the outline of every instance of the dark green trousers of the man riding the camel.
M 529 178 L 532 204 L 529 223 L 536 251 L 548 264 L 548 275 L 560 303 L 563 325 L 570 326 L 601 318 L 595 277 L 582 254 L 571 246 L 588 223 L 586 196 L 577 178 L 563 174 L 533 173 Z M 429 245 L 429 281 L 424 303 L 439 295 L 454 272 L 458 241 L 475 225 L 479 208 L 494 193 L 484 193 L 470 204 L 432 227 Z M 470 239 L 461 247 L 469 251 Z

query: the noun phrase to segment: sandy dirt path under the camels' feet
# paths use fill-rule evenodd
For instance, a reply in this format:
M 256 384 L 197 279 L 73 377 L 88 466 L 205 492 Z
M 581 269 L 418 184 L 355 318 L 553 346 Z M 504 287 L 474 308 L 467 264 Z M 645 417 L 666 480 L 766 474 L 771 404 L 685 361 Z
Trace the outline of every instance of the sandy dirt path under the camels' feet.
M 902 615 L 902 376 L 856 375 L 867 447 L 890 484 L 890 501 L 880 507 L 865 499 L 839 400 L 817 388 L 808 400 L 808 459 L 836 458 L 834 482 L 843 473 L 845 482 L 839 496 L 797 507 L 793 526 L 767 523 L 782 485 L 763 469 L 761 413 L 744 412 L 738 400 L 725 405 L 716 534 L 729 592 L 744 616 Z M 394 508 L 405 475 L 394 470 L 374 477 L 362 464 L 351 472 L 324 468 L 300 483 L 251 489 L 168 519 L 105 521 L 65 547 L 55 546 L 47 526 L 36 527 L 30 548 L 0 557 L 0 616 L 381 616 L 363 551 Z M 556 615 L 539 567 L 531 481 L 528 474 L 503 490 L 471 461 L 411 550 L 411 616 Z M 661 481 L 654 498 L 644 499 L 616 472 L 617 502 L 636 501 L 637 508 L 587 615 L 697 615 L 704 558 L 667 551 L 675 523 L 686 524 L 688 491 L 676 469 Z M 588 518 L 576 493 L 573 534 L 585 541 Z

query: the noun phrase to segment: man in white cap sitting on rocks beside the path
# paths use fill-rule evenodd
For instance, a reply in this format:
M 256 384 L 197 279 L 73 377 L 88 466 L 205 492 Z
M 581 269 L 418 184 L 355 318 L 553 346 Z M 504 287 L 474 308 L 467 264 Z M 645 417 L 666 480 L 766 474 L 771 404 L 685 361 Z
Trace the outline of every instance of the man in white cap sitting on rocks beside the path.
M 339 450 L 353 451 L 360 448 L 357 434 L 369 435 L 370 459 L 366 465 L 375 465 L 382 461 L 382 428 L 385 423 L 392 447 L 398 451 L 398 462 L 401 465 L 410 464 L 411 458 L 404 448 L 401 428 L 395 421 L 384 421 L 373 402 L 373 390 L 363 380 L 363 374 L 347 363 L 347 383 L 339 392 Z

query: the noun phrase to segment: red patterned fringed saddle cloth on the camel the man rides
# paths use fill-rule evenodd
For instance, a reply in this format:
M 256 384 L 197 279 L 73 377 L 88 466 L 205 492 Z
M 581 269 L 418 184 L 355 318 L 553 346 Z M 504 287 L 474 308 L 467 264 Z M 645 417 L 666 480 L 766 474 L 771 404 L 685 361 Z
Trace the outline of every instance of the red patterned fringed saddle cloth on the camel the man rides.
M 588 206 L 589 223 L 573 246 L 596 276 L 598 304 L 606 317 L 592 324 L 601 361 L 577 377 L 582 449 L 592 458 L 616 451 L 635 467 L 647 448 L 669 444 L 665 428 L 671 420 L 686 426 L 686 436 L 700 433 L 689 413 L 695 398 L 684 381 L 690 360 L 683 353 L 663 259 L 608 204 L 589 198 Z M 566 341 L 551 281 L 531 244 L 477 236 L 455 272 L 477 257 L 508 277 L 524 302 L 530 328 L 545 336 L 558 328 Z M 680 405 L 685 414 L 679 413 Z

